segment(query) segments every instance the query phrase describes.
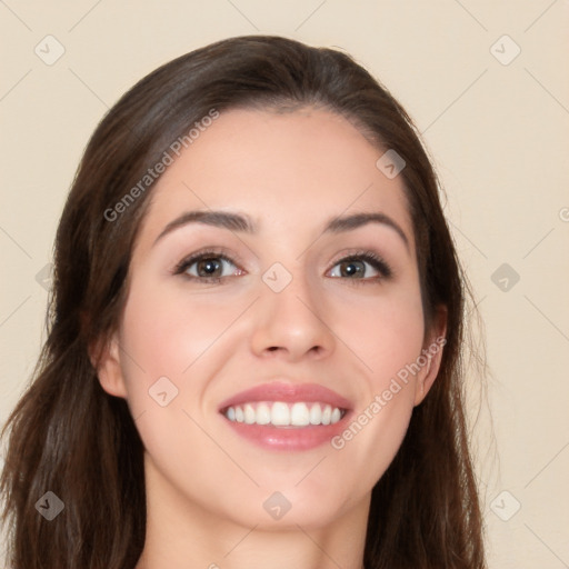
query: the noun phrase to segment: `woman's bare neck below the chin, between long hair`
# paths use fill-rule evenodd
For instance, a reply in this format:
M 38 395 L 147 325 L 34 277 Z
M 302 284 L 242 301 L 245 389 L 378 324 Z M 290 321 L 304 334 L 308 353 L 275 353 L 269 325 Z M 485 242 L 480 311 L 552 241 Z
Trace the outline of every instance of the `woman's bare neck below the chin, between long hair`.
M 321 525 L 290 516 L 268 525 L 207 510 L 160 475 L 147 476 L 147 533 L 136 569 L 361 569 L 369 512 L 365 503 Z

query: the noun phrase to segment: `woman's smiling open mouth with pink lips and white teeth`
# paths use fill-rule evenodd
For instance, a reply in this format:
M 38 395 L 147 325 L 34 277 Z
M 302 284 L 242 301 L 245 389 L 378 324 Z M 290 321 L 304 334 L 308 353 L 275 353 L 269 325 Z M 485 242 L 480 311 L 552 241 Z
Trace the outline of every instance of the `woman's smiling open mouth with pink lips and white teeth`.
M 223 401 L 219 413 L 238 435 L 266 449 L 308 450 L 338 435 L 352 405 L 317 383 L 266 383 Z

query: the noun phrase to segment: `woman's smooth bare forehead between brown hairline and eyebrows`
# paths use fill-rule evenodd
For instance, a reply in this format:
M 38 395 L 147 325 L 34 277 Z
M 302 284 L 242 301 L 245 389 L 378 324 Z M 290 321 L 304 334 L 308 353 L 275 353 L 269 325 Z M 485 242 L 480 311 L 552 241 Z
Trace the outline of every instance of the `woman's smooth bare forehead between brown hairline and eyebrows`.
M 141 238 L 156 238 L 183 211 L 226 209 L 246 212 L 261 232 L 381 211 L 412 240 L 402 179 L 376 167 L 382 153 L 327 110 L 223 111 L 173 156 L 152 190 Z

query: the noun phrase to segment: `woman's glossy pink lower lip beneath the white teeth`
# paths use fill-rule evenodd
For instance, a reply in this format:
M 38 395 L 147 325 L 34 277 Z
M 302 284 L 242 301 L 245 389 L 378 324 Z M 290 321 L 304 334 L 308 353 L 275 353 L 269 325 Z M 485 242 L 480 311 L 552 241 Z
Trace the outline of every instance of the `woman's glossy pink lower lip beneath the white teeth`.
M 307 427 L 274 427 L 273 425 L 247 425 L 230 421 L 221 417 L 238 435 L 270 450 L 310 450 L 330 443 L 332 437 L 346 429 L 351 412 L 348 411 L 333 425 L 313 425 Z

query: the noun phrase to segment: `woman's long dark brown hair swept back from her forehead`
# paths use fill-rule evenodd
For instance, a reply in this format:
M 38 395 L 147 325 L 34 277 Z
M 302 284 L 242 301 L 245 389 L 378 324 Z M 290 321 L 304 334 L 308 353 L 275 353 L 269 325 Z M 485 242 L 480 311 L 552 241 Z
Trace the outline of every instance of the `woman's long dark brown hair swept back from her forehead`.
M 136 187 L 172 141 L 212 109 L 316 104 L 350 120 L 378 151 L 395 150 L 417 242 L 426 325 L 448 309 L 438 378 L 413 410 L 372 490 L 365 563 L 373 569 L 486 567 L 463 409 L 468 292 L 417 128 L 389 91 L 340 51 L 281 37 L 230 38 L 170 61 L 132 87 L 92 134 L 54 243 L 48 339 L 12 411 L 0 490 L 14 569 L 132 569 L 144 545 L 143 448 L 127 402 L 101 388 L 90 349 L 113 331 L 153 183 Z M 378 157 L 380 154 L 378 153 Z M 131 192 L 132 196 L 132 192 Z M 64 505 L 51 521 L 37 502 Z

